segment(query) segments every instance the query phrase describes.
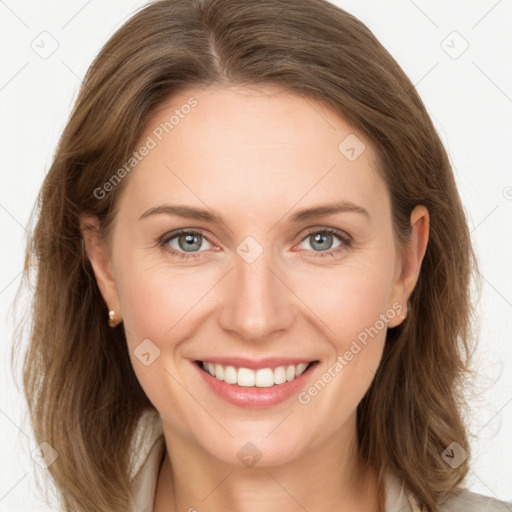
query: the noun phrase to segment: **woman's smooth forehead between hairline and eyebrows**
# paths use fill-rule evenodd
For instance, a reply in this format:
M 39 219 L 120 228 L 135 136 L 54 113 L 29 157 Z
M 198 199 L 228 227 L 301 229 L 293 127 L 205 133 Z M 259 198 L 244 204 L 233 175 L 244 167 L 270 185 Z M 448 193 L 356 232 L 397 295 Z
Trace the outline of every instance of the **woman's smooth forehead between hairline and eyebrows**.
M 323 104 L 275 88 L 185 90 L 153 113 L 143 145 L 123 194 L 133 216 L 173 201 L 253 220 L 298 201 L 386 207 L 368 142 Z

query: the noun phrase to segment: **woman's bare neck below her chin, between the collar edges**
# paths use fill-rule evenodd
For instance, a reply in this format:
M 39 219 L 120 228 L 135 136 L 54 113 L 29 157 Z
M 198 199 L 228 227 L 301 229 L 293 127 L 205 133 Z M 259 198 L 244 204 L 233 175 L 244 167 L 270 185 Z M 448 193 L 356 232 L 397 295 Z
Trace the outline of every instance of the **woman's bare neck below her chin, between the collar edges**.
M 158 478 L 155 512 L 383 510 L 376 471 L 361 465 L 355 435 L 347 442 L 335 433 L 293 460 L 267 467 L 219 461 L 165 424 L 164 435 L 167 453 Z

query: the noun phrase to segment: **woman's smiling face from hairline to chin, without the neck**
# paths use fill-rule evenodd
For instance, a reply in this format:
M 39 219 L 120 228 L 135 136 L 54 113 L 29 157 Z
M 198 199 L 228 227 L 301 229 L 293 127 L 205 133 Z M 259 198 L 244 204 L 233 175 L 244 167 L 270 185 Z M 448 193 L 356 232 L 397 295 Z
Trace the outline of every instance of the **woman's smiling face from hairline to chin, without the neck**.
M 143 144 L 109 259 L 89 256 L 166 433 L 238 465 L 353 434 L 426 238 L 399 257 L 369 142 L 312 100 L 210 87 Z

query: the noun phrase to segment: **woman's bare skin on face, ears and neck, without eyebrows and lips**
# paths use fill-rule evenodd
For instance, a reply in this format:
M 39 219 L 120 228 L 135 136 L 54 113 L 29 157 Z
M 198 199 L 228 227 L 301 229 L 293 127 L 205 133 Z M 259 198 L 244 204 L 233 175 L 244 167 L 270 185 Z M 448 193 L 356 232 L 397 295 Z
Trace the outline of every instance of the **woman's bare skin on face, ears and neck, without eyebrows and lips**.
M 229 404 L 192 361 L 300 356 L 320 361 L 319 378 L 393 304 L 403 309 L 387 327 L 403 321 L 428 241 L 428 211 L 412 212 L 400 256 L 369 142 L 325 106 L 270 87 L 184 91 L 154 113 L 141 141 L 191 96 L 197 107 L 125 178 L 111 247 L 85 229 L 96 219 L 82 216 L 99 288 L 124 322 L 137 378 L 162 418 L 167 453 L 155 511 L 378 510 L 374 472 L 358 471 L 355 420 L 386 328 L 306 405 L 296 397 L 266 409 Z M 354 133 L 366 150 L 350 161 L 338 146 Z M 287 220 L 340 200 L 369 216 Z M 152 207 L 178 203 L 215 210 L 227 225 L 166 214 L 139 220 Z M 325 227 L 352 244 L 332 235 L 318 248 L 314 235 Z M 198 258 L 178 259 L 155 242 L 181 228 L 206 237 Z M 263 250 L 252 263 L 236 252 L 248 236 Z M 178 241 L 167 247 L 190 254 Z M 145 366 L 134 350 L 148 338 L 160 356 Z M 247 442 L 262 454 L 253 467 L 237 458 Z

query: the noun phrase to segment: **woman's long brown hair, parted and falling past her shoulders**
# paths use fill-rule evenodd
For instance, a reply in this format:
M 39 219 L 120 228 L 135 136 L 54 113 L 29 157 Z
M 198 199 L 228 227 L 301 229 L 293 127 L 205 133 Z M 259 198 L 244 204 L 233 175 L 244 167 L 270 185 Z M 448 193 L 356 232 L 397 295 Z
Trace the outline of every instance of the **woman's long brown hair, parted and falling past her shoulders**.
M 479 277 L 449 158 L 414 85 L 353 15 L 326 0 L 161 0 L 135 13 L 102 48 L 79 91 L 31 221 L 24 280 L 35 267 L 23 387 L 48 468 L 71 511 L 130 503 L 129 446 L 154 409 L 130 363 L 124 330 L 85 253 L 79 216 L 93 213 L 111 240 L 129 177 L 102 187 L 132 155 L 163 102 L 189 87 L 278 86 L 322 102 L 372 144 L 403 248 L 424 205 L 430 236 L 408 317 L 387 332 L 382 361 L 357 407 L 360 459 L 392 471 L 436 512 L 460 487 L 441 453 L 470 452 L 464 387 L 470 373 L 472 277 Z

